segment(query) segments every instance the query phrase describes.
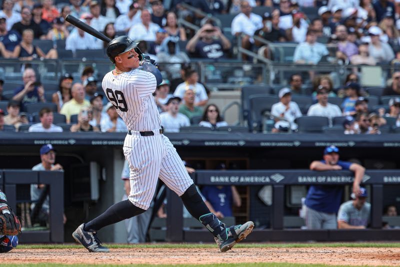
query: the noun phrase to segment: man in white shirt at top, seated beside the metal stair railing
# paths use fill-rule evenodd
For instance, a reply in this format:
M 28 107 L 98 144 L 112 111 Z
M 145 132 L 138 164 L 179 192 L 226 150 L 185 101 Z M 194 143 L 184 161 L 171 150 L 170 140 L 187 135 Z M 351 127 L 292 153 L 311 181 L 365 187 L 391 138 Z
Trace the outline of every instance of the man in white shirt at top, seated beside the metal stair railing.
M 240 11 L 241 12 L 233 18 L 230 28 L 232 35 L 241 36 L 240 46 L 249 50 L 254 43 L 252 36 L 255 31 L 263 27 L 262 18 L 251 12 L 251 7 L 247 1 L 240 2 Z M 242 59 L 247 60 L 247 56 L 242 54 Z

